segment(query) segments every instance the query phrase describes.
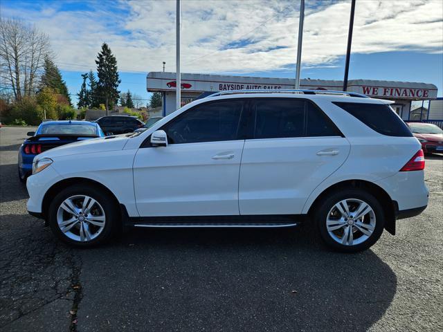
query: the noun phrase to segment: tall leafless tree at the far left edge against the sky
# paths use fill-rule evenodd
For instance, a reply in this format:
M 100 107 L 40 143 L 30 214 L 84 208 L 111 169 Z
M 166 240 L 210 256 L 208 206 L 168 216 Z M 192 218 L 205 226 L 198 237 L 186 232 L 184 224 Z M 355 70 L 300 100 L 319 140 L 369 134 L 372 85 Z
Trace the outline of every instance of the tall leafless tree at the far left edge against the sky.
M 50 53 L 48 36 L 35 26 L 0 17 L 0 76 L 15 100 L 34 93 L 44 55 Z

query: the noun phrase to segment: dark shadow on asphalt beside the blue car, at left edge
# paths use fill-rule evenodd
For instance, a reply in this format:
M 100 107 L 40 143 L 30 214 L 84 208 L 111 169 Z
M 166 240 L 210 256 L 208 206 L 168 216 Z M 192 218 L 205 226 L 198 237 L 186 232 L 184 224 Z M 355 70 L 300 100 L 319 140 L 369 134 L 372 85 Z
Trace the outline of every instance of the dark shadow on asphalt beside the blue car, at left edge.
M 19 181 L 17 164 L 0 165 L 0 203 L 28 199 L 26 185 Z

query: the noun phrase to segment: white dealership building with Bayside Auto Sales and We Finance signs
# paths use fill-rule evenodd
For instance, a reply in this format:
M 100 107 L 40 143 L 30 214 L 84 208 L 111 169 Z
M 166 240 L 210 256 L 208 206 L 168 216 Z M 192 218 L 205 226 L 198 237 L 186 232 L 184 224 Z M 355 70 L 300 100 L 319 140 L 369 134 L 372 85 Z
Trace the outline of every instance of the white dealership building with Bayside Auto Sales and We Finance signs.
M 181 106 L 196 100 L 202 93 L 216 93 L 219 91 L 252 90 L 252 89 L 293 89 L 295 80 L 275 77 L 246 77 L 207 74 L 181 74 Z M 147 74 L 147 91 L 161 92 L 163 95 L 163 116 L 176 110 L 176 74 L 165 72 L 151 72 Z M 300 80 L 300 89 L 308 90 L 336 90 L 343 89 L 343 81 L 338 80 Z M 414 109 L 411 103 L 415 101 L 437 99 L 437 86 L 419 82 L 395 82 L 377 80 L 349 80 L 347 91 L 362 93 L 372 98 L 394 101 L 392 108 L 404 120 L 419 120 L 413 118 Z M 439 98 L 440 99 L 440 98 Z M 422 120 L 442 120 L 443 108 L 434 107 L 419 114 Z M 424 105 L 422 104 L 422 109 Z

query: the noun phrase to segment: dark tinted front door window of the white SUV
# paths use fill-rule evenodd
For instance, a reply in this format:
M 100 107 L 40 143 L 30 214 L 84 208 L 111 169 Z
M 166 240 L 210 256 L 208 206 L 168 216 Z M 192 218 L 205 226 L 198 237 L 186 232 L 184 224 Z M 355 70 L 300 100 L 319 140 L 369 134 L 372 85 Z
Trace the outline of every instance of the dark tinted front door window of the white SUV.
M 161 129 L 170 144 L 236 140 L 242 105 L 240 100 L 201 104 Z

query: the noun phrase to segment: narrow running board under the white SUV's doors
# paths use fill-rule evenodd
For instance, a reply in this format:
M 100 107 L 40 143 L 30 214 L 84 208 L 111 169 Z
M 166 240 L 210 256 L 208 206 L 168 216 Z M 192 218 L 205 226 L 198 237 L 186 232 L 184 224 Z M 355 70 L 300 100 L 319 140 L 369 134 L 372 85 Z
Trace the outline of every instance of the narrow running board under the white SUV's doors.
M 298 223 L 135 223 L 134 227 L 151 228 L 280 228 L 293 227 Z

